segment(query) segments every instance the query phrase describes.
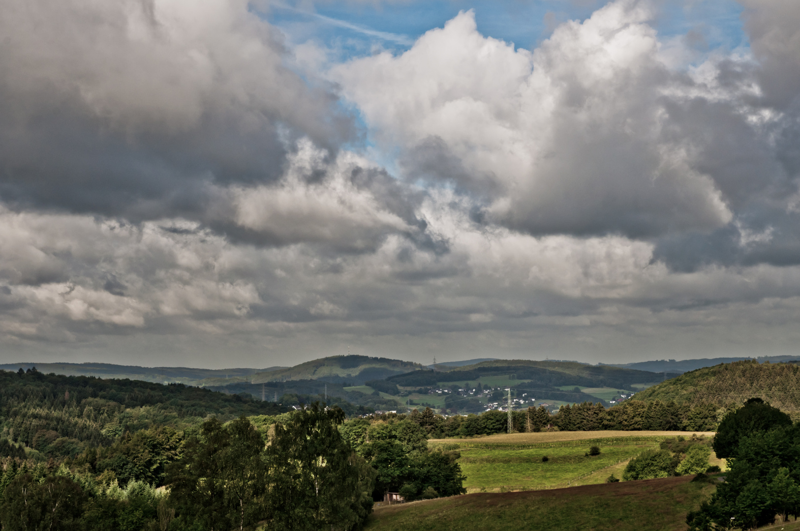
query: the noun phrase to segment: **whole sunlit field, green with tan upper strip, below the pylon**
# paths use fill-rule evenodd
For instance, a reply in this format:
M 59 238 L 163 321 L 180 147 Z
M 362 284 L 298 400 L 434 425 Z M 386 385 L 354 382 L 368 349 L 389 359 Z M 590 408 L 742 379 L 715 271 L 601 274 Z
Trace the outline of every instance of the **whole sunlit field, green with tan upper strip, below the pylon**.
M 467 492 L 502 492 L 603 483 L 611 473 L 622 477 L 631 457 L 645 449 L 658 449 L 658 443 L 676 435 L 686 437 L 687 433 L 506 433 L 471 439 L 431 439 L 429 445 L 459 450 L 458 463 L 466 475 Z M 600 447 L 600 455 L 586 455 L 592 445 Z M 547 461 L 542 461 L 545 456 Z M 712 457 L 710 462 L 724 468 L 722 460 Z

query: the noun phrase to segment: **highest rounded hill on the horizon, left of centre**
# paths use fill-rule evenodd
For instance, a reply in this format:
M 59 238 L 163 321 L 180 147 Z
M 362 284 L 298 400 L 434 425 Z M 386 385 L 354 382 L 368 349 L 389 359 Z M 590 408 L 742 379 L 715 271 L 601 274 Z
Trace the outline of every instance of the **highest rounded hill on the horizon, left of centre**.
M 331 356 L 306 361 L 287 369 L 257 373 L 250 377 L 250 381 L 260 384 L 268 381 L 319 380 L 363 385 L 366 381 L 382 380 L 419 369 L 423 369 L 423 365 L 387 357 Z

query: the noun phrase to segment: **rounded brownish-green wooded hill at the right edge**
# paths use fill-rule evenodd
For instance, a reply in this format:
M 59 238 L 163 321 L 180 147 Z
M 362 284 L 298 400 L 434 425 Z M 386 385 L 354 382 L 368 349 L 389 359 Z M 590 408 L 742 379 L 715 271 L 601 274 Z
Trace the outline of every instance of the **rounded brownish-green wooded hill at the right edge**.
M 734 361 L 693 370 L 636 393 L 642 401 L 686 404 L 741 405 L 753 397 L 800 417 L 800 365 Z

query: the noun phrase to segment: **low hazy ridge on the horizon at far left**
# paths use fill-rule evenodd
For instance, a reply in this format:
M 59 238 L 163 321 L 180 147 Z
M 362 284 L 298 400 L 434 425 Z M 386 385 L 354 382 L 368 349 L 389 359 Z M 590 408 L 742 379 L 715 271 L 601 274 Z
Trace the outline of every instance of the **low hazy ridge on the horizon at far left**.
M 202 385 L 201 381 L 212 379 L 225 381 L 230 378 L 249 379 L 255 373 L 285 369 L 268 367 L 266 369 L 193 369 L 190 367 L 140 367 L 138 365 L 114 365 L 112 363 L 5 363 L 0 369 L 16 372 L 36 367 L 40 373 L 56 373 L 64 376 L 94 376 L 98 378 L 128 378 L 130 380 L 151 381 L 154 383 L 182 383 Z

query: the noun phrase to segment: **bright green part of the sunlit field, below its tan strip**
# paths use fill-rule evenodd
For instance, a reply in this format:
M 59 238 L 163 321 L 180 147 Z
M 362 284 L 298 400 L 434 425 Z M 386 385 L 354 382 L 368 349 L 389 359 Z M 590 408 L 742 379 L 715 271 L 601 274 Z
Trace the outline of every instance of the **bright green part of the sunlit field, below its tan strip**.
M 644 449 L 658 448 L 657 442 L 634 444 L 598 443 L 601 453 L 586 456 L 594 443 L 581 445 L 545 446 L 528 449 L 462 448 L 458 463 L 466 475 L 468 491 L 498 489 L 530 490 L 555 489 L 574 484 L 598 470 L 618 465 L 636 457 Z M 542 457 L 548 461 L 542 461 Z M 610 473 L 609 473 L 610 474 Z M 604 481 L 605 477 L 599 481 Z

